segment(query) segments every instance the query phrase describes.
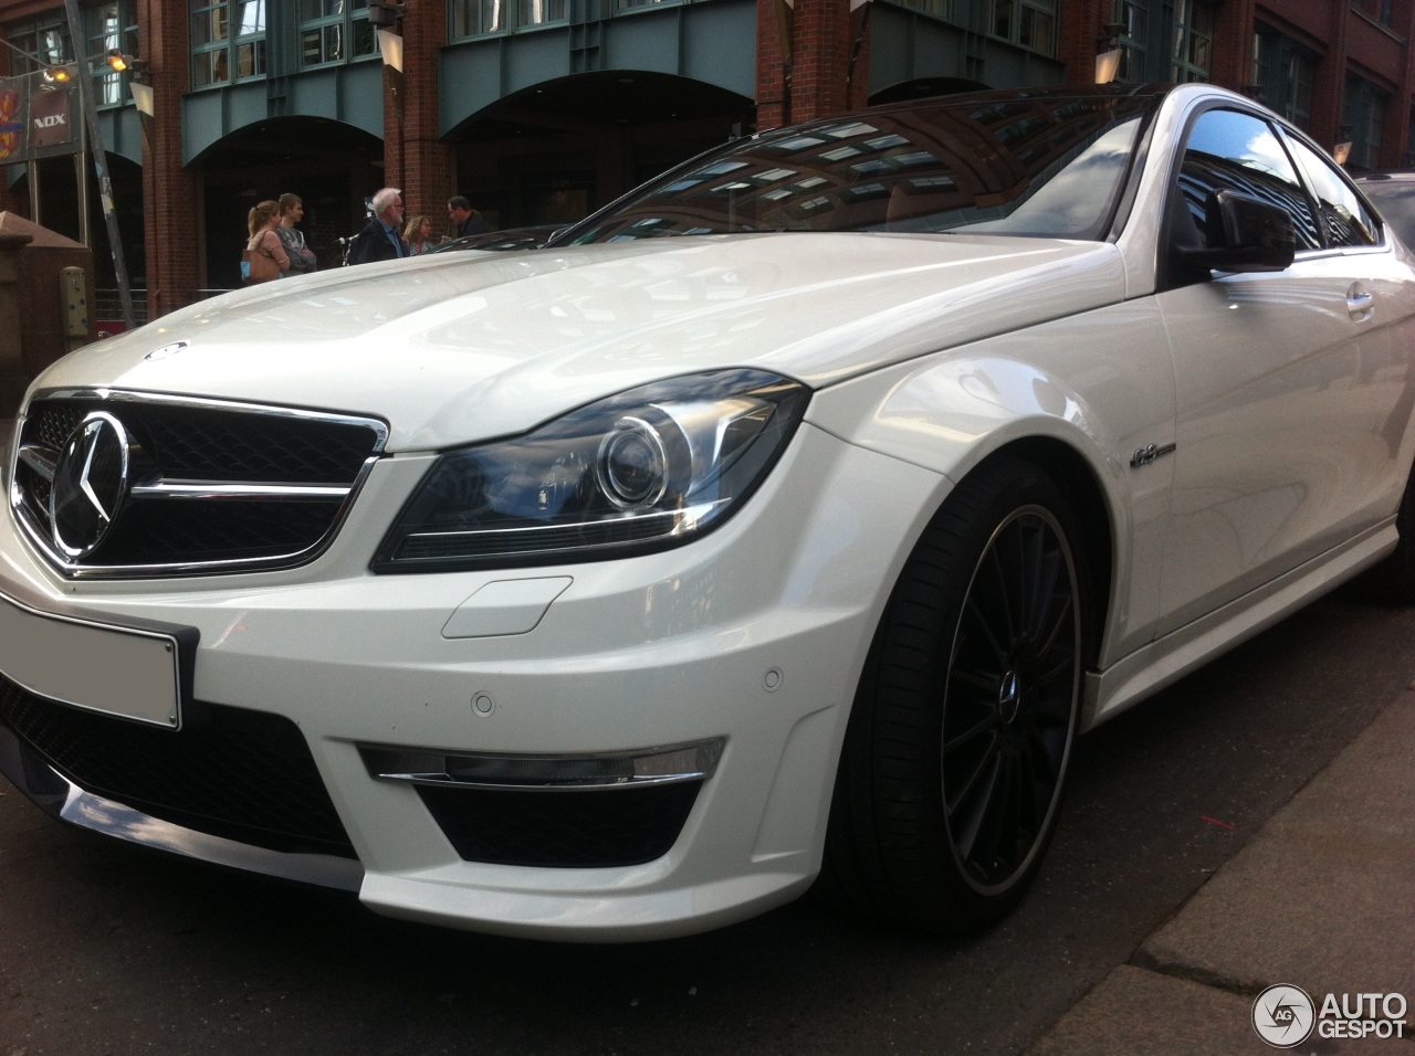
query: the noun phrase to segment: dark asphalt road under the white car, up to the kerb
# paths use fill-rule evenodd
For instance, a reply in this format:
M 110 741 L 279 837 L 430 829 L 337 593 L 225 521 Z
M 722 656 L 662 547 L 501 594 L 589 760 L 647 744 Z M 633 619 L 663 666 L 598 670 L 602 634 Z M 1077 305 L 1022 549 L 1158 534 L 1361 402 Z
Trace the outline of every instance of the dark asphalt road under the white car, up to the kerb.
M 1415 612 L 1346 589 L 1102 727 L 1037 888 L 972 941 L 809 899 L 658 944 L 437 930 L 68 828 L 0 780 L 0 1056 L 1020 1053 L 1412 674 Z

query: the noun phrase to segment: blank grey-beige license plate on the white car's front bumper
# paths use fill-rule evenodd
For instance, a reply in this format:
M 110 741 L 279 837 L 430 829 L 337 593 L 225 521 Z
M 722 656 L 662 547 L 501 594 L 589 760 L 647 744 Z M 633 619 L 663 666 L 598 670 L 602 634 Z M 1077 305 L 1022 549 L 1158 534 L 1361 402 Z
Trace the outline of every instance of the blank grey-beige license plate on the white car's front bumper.
M 41 697 L 177 729 L 177 657 L 171 635 L 52 616 L 0 595 L 0 671 Z

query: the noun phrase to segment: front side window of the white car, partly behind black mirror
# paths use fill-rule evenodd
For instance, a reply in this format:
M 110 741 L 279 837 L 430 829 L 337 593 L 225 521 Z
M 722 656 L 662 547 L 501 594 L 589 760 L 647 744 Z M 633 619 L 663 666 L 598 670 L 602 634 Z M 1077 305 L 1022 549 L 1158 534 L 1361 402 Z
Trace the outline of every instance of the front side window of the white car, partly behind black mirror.
M 1299 252 L 1322 249 L 1312 205 L 1272 126 L 1237 110 L 1208 110 L 1194 123 L 1179 171 L 1180 198 L 1197 230 L 1172 230 L 1172 239 L 1206 249 L 1221 245 L 1214 195 L 1225 188 L 1286 211 Z M 1184 212 L 1172 209 L 1170 223 L 1183 225 Z

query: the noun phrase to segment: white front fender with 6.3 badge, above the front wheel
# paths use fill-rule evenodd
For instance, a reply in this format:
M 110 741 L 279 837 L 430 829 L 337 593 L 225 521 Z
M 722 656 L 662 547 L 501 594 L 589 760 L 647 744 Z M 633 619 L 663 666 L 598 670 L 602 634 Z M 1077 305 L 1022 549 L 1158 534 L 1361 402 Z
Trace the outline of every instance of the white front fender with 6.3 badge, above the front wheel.
M 1173 468 L 1169 458 L 1138 459 L 1135 452 L 1163 452 L 1174 441 L 1174 372 L 1152 300 L 842 382 L 816 393 L 808 418 L 848 442 L 954 482 L 1010 444 L 1064 444 L 1090 468 L 1114 526 L 1099 662 L 1105 666 L 1149 640 Z

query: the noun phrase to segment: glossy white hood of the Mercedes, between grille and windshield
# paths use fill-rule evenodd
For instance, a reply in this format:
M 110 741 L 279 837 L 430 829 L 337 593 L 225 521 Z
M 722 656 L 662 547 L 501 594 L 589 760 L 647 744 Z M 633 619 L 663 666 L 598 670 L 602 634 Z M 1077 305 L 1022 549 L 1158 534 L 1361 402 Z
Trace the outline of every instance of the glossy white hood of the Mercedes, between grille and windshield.
M 449 253 L 202 301 L 74 352 L 34 389 L 372 414 L 391 451 L 446 448 L 695 370 L 756 366 L 819 387 L 1122 295 L 1115 246 L 1043 239 L 737 235 Z

